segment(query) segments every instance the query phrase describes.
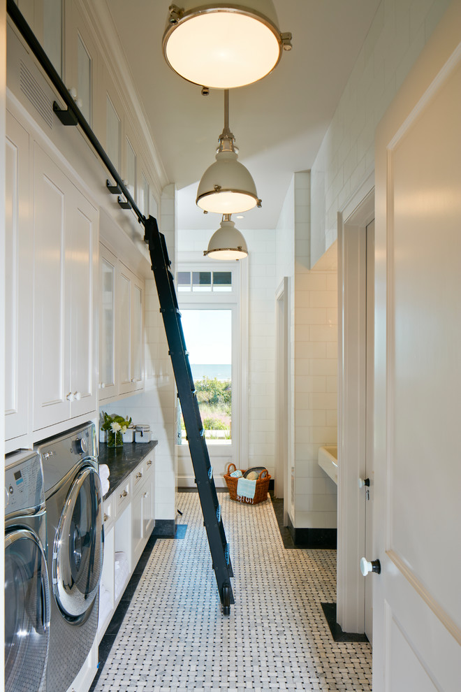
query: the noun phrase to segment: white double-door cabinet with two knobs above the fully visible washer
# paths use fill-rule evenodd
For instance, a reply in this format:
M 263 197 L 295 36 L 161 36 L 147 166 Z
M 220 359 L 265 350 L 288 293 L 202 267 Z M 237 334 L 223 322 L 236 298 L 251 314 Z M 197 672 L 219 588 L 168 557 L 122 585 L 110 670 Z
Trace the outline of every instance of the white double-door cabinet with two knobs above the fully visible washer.
M 34 430 L 96 410 L 98 212 L 34 147 Z

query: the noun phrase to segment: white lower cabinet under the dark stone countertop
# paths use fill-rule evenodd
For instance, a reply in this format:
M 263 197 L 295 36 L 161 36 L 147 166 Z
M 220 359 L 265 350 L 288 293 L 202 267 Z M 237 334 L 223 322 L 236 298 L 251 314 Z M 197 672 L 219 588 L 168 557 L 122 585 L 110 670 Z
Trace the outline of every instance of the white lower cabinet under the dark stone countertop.
M 154 450 L 104 501 L 104 561 L 99 643 L 155 526 Z

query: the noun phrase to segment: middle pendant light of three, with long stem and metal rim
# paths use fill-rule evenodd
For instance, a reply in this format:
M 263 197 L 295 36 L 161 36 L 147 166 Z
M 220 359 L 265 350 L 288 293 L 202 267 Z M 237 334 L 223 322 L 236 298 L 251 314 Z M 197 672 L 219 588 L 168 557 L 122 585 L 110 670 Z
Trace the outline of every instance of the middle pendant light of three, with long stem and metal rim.
M 237 214 L 261 207 L 256 185 L 238 158 L 235 138 L 229 129 L 229 92 L 224 91 L 224 129 L 219 135 L 216 161 L 198 184 L 196 204 L 205 212 Z

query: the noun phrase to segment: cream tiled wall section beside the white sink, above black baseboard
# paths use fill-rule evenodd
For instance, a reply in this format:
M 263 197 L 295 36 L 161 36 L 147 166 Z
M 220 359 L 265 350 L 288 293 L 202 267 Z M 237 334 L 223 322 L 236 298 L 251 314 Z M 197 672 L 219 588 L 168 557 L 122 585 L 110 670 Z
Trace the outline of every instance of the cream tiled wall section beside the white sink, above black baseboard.
M 295 528 L 336 528 L 337 487 L 317 463 L 337 440 L 337 272 L 311 271 L 311 175 L 295 174 Z

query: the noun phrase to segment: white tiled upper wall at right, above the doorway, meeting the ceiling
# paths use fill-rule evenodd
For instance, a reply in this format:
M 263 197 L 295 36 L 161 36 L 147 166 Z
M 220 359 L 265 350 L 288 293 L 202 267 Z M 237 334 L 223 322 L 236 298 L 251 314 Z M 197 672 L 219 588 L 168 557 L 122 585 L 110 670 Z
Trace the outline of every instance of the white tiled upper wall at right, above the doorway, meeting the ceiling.
M 382 0 L 312 166 L 311 266 L 337 239 L 337 212 L 374 171 L 374 131 L 449 0 Z

